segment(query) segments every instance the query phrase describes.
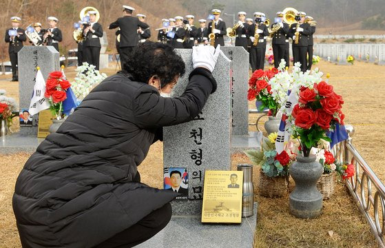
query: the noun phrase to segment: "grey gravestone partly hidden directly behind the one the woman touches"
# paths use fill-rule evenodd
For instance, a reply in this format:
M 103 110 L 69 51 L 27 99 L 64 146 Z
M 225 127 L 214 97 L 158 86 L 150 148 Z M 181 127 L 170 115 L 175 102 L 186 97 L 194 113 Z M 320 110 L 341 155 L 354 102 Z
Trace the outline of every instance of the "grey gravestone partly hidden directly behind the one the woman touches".
M 233 61 L 231 71 L 231 135 L 249 135 L 249 52 L 243 47 L 222 47 L 221 50 Z

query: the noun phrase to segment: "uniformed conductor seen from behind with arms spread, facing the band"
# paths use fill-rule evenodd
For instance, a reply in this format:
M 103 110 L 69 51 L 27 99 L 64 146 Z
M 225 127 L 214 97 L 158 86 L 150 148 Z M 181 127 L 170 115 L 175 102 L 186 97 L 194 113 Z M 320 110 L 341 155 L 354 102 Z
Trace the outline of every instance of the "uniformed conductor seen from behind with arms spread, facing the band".
M 118 18 L 110 24 L 110 29 L 121 28 L 121 42 L 119 43 L 121 65 L 124 68 L 129 53 L 138 45 L 138 27 L 149 28 L 147 23 L 139 21 L 137 17 L 132 17 L 132 11 L 135 9 L 130 6 L 123 6 L 123 17 Z

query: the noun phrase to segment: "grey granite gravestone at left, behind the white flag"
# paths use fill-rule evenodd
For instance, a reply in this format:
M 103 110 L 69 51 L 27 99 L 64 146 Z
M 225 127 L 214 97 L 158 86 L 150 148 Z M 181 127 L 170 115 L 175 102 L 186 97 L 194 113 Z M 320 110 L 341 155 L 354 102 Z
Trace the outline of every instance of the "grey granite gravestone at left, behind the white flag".
M 48 74 L 60 70 L 59 52 L 51 46 L 25 45 L 17 54 L 19 60 L 19 105 L 20 109 L 28 109 L 34 83 L 36 81 L 37 67 L 40 67 L 45 80 Z M 33 116 L 33 127 L 20 127 L 20 134 L 37 135 L 38 114 Z

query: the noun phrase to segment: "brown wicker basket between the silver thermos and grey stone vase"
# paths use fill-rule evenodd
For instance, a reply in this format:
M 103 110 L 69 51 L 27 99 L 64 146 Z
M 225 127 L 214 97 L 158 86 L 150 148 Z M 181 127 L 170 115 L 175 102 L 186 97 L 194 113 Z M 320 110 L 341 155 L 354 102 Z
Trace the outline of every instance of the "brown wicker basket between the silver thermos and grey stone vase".
M 286 176 L 269 177 L 260 169 L 260 177 L 258 180 L 258 190 L 260 196 L 269 198 L 279 198 L 287 194 L 287 186 L 289 181 Z

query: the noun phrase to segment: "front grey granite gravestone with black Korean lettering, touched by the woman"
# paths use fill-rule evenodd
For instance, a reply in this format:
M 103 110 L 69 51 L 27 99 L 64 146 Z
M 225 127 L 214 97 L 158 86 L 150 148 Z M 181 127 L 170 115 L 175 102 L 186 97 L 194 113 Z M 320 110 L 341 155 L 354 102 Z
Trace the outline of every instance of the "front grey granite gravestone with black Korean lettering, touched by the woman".
M 186 73 L 174 87 L 172 96 L 185 91 L 193 70 L 192 50 L 176 50 L 186 65 Z M 202 112 L 189 123 L 163 128 L 163 165 L 187 169 L 188 200 L 174 200 L 173 213 L 194 215 L 202 211 L 203 180 L 206 169 L 229 170 L 231 165 L 231 61 L 220 55 L 213 72 L 218 88 Z

